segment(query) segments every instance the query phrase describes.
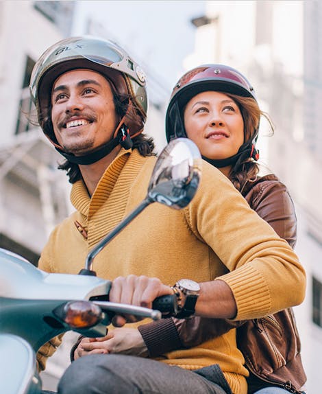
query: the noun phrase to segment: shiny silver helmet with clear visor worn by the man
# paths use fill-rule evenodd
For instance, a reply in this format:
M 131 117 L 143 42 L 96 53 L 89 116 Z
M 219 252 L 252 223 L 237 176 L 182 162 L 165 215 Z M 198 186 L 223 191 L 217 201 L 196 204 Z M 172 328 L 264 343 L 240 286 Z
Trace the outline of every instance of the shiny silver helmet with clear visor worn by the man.
M 134 137 L 142 132 L 147 117 L 145 73 L 119 45 L 110 40 L 92 36 L 66 38 L 55 43 L 42 54 L 34 66 L 29 86 L 32 100 L 36 105 L 38 122 L 60 153 L 66 152 L 59 146 L 52 130 L 51 90 L 55 80 L 62 73 L 73 69 L 97 71 L 108 79 L 112 90 L 120 95 L 129 96 L 129 109 L 124 118 L 126 126 L 122 128 L 122 125 L 119 125 L 119 129 L 123 130 L 122 135 L 119 136 L 118 133 L 117 141 L 112 143 L 113 148 L 120 143 L 120 137 L 121 142 L 124 139 L 131 142 L 129 136 Z M 44 128 L 48 123 L 51 127 Z M 106 154 L 108 152 L 103 156 Z M 64 154 L 64 156 L 69 161 L 78 163 L 77 159 L 73 160 L 73 155 Z M 95 157 L 99 156 L 95 155 Z M 80 160 L 86 164 L 85 157 L 82 158 Z M 95 161 L 97 160 L 95 159 Z

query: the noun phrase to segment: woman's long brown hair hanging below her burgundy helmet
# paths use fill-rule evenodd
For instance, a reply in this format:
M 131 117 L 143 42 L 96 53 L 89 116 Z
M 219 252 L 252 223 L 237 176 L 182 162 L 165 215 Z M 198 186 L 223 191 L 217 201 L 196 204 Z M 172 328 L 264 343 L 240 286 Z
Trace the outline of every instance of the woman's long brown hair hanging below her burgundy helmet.
M 231 93 L 225 93 L 232 98 L 238 105 L 240 113 L 244 120 L 244 142 L 251 141 L 256 136 L 260 126 L 260 117 L 264 116 L 271 126 L 272 134 L 274 132 L 273 124 L 269 116 L 260 110 L 258 103 L 251 97 L 242 97 Z M 230 181 L 239 192 L 243 189 L 247 182 L 256 181 L 260 168 L 258 163 L 251 157 L 245 159 L 238 167 L 232 167 L 229 174 Z

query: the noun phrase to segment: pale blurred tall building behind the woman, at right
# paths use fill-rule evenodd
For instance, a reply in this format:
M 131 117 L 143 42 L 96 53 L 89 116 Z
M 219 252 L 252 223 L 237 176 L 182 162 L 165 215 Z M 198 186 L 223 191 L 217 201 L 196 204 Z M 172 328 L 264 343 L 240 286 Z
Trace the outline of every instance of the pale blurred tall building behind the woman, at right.
M 296 251 L 304 264 L 306 301 L 295 308 L 308 375 L 319 394 L 322 377 L 322 3 L 208 1 L 193 19 L 195 51 L 185 68 L 231 65 L 253 84 L 271 115 L 274 137 L 261 124 L 261 161 L 286 183 L 298 216 Z

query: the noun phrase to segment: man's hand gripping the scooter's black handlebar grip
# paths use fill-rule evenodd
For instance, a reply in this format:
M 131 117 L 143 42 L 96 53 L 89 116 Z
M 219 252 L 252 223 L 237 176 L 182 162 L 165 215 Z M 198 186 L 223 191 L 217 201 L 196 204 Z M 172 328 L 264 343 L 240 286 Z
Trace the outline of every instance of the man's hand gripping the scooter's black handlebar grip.
M 173 294 L 173 290 L 158 278 L 129 275 L 114 279 L 109 299 L 111 302 L 152 308 L 152 302 L 157 297 L 168 294 Z M 115 327 L 122 327 L 127 322 L 133 323 L 140 319 L 140 317 L 133 315 L 114 316 L 112 323 Z

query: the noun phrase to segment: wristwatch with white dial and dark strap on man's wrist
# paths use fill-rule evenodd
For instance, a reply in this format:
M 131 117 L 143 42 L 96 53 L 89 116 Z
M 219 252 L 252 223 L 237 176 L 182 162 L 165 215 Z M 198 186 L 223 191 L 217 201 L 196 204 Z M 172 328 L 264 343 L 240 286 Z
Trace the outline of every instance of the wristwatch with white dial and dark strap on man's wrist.
M 195 305 L 200 292 L 199 283 L 191 279 L 179 279 L 173 286 L 173 291 L 177 294 L 179 301 L 179 312 L 175 317 L 187 318 L 195 314 Z

